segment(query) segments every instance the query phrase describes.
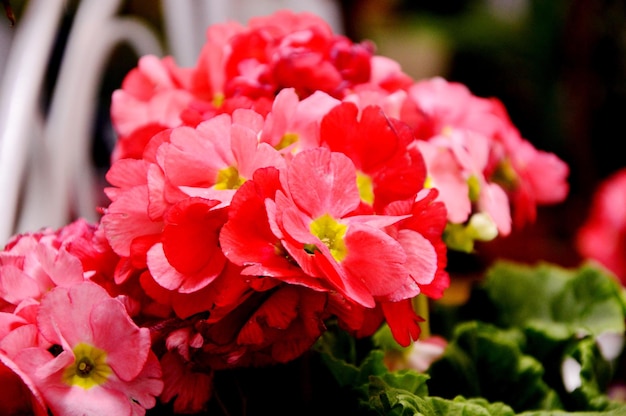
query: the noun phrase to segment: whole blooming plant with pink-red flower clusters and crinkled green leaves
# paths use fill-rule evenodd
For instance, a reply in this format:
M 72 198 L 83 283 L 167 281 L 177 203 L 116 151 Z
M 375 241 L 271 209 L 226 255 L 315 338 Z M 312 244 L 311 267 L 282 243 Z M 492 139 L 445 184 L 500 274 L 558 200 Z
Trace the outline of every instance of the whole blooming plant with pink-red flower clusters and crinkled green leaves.
M 449 250 L 507 236 L 568 193 L 567 165 L 522 138 L 499 100 L 415 81 L 371 43 L 280 11 L 208 28 L 194 67 L 142 57 L 111 116 L 101 220 L 17 235 L 0 252 L 0 379 L 19 392 L 0 392 L 9 413 L 613 406 L 589 387 L 597 372 L 571 390 L 542 379 L 553 368 L 540 346 L 589 352 L 582 366 L 619 355 L 597 353 L 600 336 L 623 333 L 624 304 L 595 269 L 501 266 L 482 289 L 500 321 L 469 322 L 470 309 L 454 334 L 423 331 L 424 301 L 450 285 Z M 525 309 L 533 295 L 507 294 L 508 275 L 552 291 Z M 580 308 L 572 287 L 588 275 L 603 296 Z M 295 367 L 307 359 L 322 365 Z M 293 371 L 307 394 L 264 396 L 270 374 Z M 497 391 L 498 377 L 527 395 Z

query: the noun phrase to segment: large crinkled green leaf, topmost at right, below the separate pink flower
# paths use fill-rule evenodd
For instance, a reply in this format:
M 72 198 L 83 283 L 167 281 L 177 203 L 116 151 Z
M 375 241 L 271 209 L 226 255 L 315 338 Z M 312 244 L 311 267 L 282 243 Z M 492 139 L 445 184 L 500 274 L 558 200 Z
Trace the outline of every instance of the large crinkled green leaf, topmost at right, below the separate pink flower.
M 483 284 L 498 313 L 494 323 L 528 327 L 555 340 L 581 333 L 624 332 L 621 288 L 604 270 L 501 261 Z

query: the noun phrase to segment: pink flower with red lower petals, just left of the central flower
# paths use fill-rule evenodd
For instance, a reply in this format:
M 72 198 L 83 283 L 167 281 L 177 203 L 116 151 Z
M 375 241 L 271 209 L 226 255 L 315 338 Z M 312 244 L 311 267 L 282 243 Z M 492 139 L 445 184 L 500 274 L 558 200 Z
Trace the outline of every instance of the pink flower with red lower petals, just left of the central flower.
M 114 163 L 113 202 L 102 219 L 113 250 L 140 259 L 168 290 L 191 293 L 215 280 L 226 264 L 218 235 L 234 193 L 256 169 L 285 163 L 259 142 L 263 121 L 239 109 L 163 132 L 143 160 Z

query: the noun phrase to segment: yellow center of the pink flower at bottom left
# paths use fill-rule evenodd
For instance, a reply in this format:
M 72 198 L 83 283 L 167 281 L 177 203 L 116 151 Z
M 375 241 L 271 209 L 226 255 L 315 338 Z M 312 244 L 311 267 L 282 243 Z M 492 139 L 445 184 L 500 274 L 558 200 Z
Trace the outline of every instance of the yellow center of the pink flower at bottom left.
M 63 372 L 62 380 L 70 386 L 79 386 L 88 390 L 104 384 L 111 367 L 106 363 L 105 351 L 81 342 L 74 347 L 74 363 Z

